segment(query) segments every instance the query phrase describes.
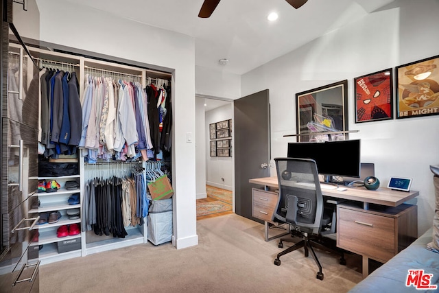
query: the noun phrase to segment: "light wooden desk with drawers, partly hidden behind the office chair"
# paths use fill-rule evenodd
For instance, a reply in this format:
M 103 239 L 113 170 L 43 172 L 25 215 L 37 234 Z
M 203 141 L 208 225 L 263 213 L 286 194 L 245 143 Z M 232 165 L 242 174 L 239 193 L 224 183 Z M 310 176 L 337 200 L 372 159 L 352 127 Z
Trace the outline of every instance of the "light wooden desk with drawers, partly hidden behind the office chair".
M 272 223 L 276 207 L 278 180 L 277 177 L 265 177 L 249 182 L 264 187 L 252 189 L 253 216 L 264 220 L 265 241 L 268 241 L 268 225 Z M 418 237 L 417 206 L 404 202 L 418 196 L 419 191 L 355 187 L 346 191 L 322 189 L 322 194 L 344 201 L 337 204 L 337 246 L 362 255 L 363 277 L 368 275 L 369 259 L 384 263 Z

